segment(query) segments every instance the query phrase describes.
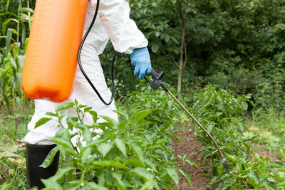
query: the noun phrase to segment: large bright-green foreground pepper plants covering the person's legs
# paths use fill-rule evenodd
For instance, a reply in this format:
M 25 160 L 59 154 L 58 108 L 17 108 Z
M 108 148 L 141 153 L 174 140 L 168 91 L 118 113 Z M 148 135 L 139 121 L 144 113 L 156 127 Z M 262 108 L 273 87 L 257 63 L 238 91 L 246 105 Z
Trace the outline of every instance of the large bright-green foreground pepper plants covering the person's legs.
M 66 115 L 66 109 L 75 109 L 78 117 Z M 106 122 L 98 124 L 98 115 L 92 107 L 75 101 L 60 105 L 56 112 L 47 113 L 51 117 L 36 123 L 38 127 L 56 118 L 61 127 L 56 137 L 51 138 L 57 147 L 42 166 L 48 167 L 58 151 L 65 162 L 55 176 L 43 180 L 47 188 L 174 189 L 172 181 L 177 185 L 179 181 L 177 170 L 191 184 L 190 175 L 185 169 L 177 169 L 172 154 L 171 137 L 175 135 L 167 127 L 154 127 L 151 132 L 145 127 L 150 122 L 143 119 L 150 110 L 139 110 L 133 115 L 116 112 L 123 119 L 121 122 L 102 116 Z M 83 117 L 87 114 L 93 116 L 93 125 L 84 125 Z M 68 129 L 63 129 L 64 120 Z M 102 132 L 94 132 L 94 128 Z M 75 144 L 72 138 L 76 138 Z

